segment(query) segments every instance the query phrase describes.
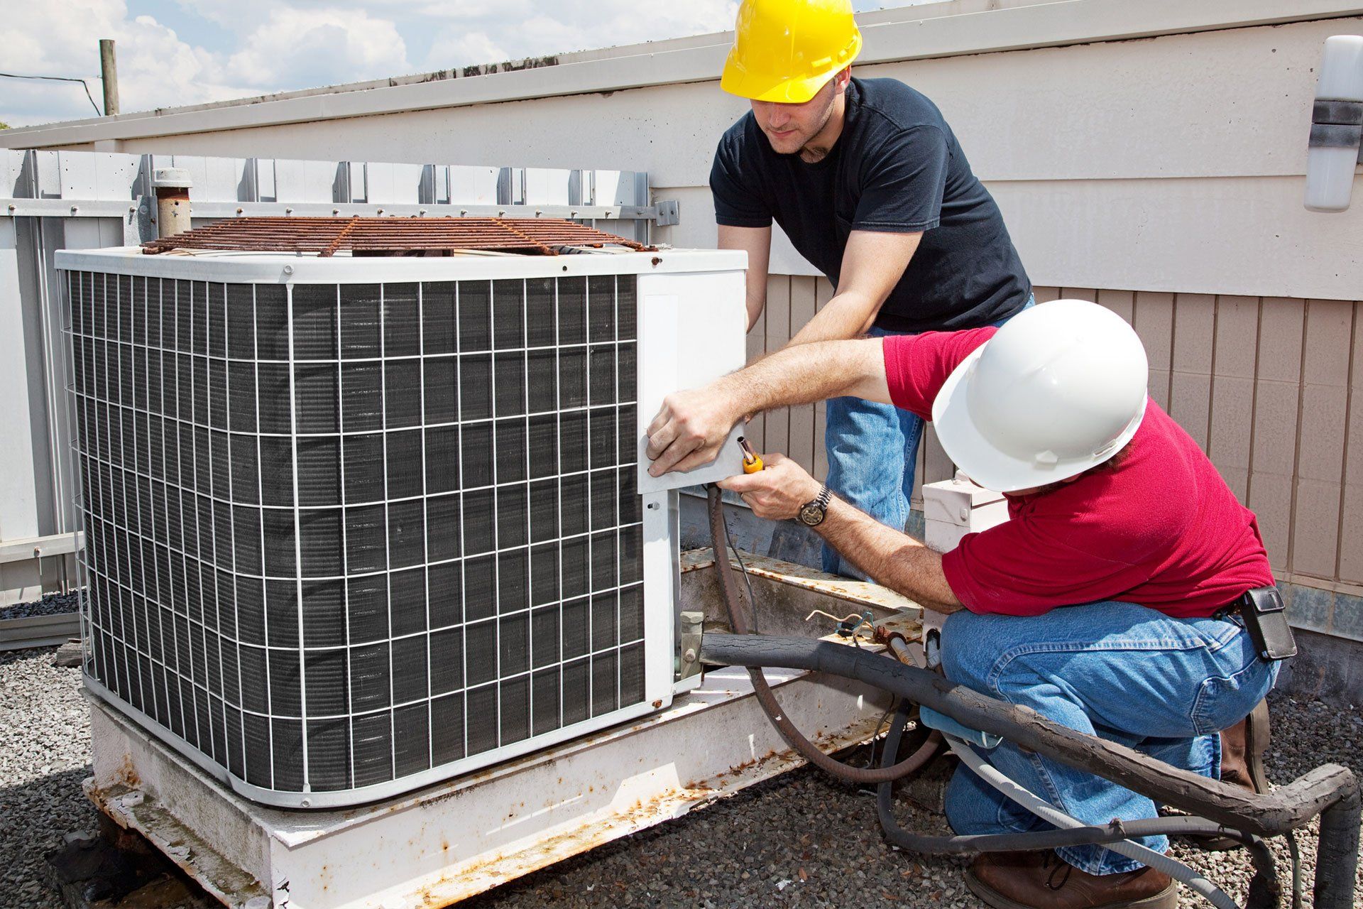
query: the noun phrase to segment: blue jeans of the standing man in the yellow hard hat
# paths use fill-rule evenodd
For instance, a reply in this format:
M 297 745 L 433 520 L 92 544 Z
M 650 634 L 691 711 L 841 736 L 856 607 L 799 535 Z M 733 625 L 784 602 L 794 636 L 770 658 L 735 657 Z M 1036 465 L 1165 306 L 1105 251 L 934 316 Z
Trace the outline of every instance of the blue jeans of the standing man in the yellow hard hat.
M 1036 297 L 1032 297 L 1022 309 L 1035 304 Z M 1007 319 L 994 324 L 1005 322 Z M 885 338 L 906 333 L 872 327 L 867 334 Z M 923 439 L 923 420 L 893 405 L 861 398 L 829 398 L 825 413 L 829 489 L 880 523 L 904 530 L 913 497 L 913 466 L 919 457 L 919 440 Z M 827 545 L 823 546 L 823 570 L 870 581 Z

